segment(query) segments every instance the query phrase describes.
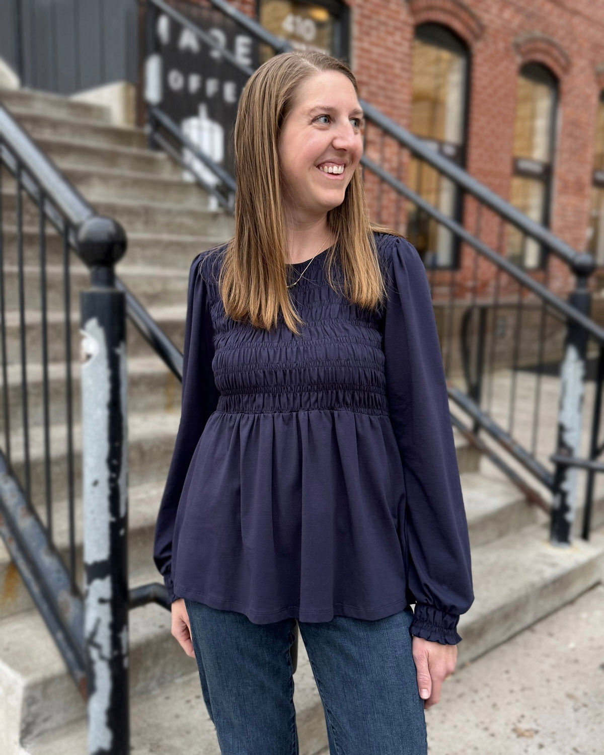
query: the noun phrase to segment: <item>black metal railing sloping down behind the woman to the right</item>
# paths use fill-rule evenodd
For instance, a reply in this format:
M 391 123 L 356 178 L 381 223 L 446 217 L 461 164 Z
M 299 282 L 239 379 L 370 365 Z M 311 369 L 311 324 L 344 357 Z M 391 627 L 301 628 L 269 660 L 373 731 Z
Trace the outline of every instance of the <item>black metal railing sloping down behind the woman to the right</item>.
M 267 45 L 276 54 L 292 49 L 226 0 L 208 0 L 208 4 L 228 15 L 257 45 Z M 220 53 L 239 74 L 250 75 L 249 66 L 180 13 L 178 8 L 186 7 L 182 0 L 146 0 L 145 7 L 146 54 L 159 54 L 157 21 L 165 14 Z M 581 530 L 587 539 L 593 475 L 599 471 L 595 462 L 604 450 L 598 442 L 602 374 L 598 372 L 590 392 L 592 403 L 584 407 L 584 381 L 577 368 L 584 370 L 587 357 L 599 355 L 604 344 L 604 330 L 590 319 L 592 257 L 578 254 L 488 190 L 440 155 L 429 140 L 415 137 L 365 100 L 360 102 L 366 122 L 361 165 L 371 215 L 377 223 L 405 233 L 424 258 L 449 396 L 461 412 L 461 416 L 451 414 L 451 420 L 530 501 L 551 511 L 553 543 L 570 542 L 576 470 L 587 470 Z M 164 146 L 159 126 L 166 128 L 168 116 L 157 102 L 147 112 L 150 143 Z M 194 145 L 174 122 L 168 130 L 172 140 L 168 151 L 173 156 L 184 149 L 193 151 Z M 217 179 L 213 193 L 232 196 L 233 183 L 225 180 L 224 169 L 196 149 Z M 430 191 L 422 190 L 426 185 Z M 444 211 L 442 195 L 455 196 L 451 205 L 458 211 Z M 227 202 L 221 204 L 230 208 Z M 535 249 L 542 260 L 536 270 L 527 264 L 529 252 Z M 448 253 L 448 260 L 443 263 L 443 255 L 435 250 Z M 508 253 L 516 255 L 515 261 Z M 546 374 L 552 365 L 557 374 L 553 378 Z M 529 374 L 535 376 L 532 385 Z M 559 410 L 557 422 L 552 421 L 552 411 L 544 413 L 541 407 L 545 401 L 551 410 L 552 396 Z M 517 423 L 519 412 L 522 426 Z M 583 457 L 581 427 L 590 416 L 590 450 Z M 481 430 L 486 437 L 479 437 Z M 554 454 L 549 450 L 552 436 L 557 437 Z M 551 507 L 545 498 L 551 499 Z

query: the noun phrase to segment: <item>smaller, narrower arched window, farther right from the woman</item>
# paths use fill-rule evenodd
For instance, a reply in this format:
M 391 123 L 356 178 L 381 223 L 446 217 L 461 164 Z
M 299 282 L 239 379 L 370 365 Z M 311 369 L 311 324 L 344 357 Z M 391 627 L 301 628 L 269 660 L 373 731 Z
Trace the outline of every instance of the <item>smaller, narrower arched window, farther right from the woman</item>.
M 525 63 L 518 76 L 510 203 L 537 223 L 550 223 L 550 196 L 558 82 L 541 63 Z M 541 244 L 510 228 L 507 257 L 520 267 L 544 265 Z

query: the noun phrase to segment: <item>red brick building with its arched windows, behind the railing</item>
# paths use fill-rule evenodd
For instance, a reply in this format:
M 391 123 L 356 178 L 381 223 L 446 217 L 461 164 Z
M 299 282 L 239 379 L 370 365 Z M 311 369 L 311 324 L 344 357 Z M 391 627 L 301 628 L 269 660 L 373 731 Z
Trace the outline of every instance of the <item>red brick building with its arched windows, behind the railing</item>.
M 575 0 L 572 8 L 556 0 L 233 5 L 294 46 L 327 49 L 348 60 L 363 99 L 604 266 L 604 5 L 590 0 Z M 403 180 L 442 211 L 454 212 L 450 187 L 425 167 L 420 174 L 411 159 Z M 472 227 L 465 205 L 458 212 Z M 428 236 L 436 233 L 434 226 Z M 520 239 L 510 231 L 508 256 L 538 270 L 538 245 L 529 241 L 520 254 Z M 437 249 L 439 267 L 458 266 L 442 240 L 432 245 L 424 240 Z M 495 239 L 485 240 L 495 245 Z M 420 248 L 421 238 L 417 241 Z

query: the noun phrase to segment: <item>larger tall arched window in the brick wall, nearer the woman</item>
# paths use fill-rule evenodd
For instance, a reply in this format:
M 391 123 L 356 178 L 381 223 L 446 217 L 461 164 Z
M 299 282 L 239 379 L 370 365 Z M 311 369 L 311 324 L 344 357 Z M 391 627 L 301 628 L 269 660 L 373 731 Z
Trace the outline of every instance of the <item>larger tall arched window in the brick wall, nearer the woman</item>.
M 469 57 L 464 42 L 445 26 L 415 28 L 410 130 L 458 165 L 465 156 Z M 448 217 L 460 219 L 458 189 L 430 165 L 411 158 L 408 186 Z M 427 267 L 457 265 L 454 236 L 416 205 L 409 209 L 405 235 Z

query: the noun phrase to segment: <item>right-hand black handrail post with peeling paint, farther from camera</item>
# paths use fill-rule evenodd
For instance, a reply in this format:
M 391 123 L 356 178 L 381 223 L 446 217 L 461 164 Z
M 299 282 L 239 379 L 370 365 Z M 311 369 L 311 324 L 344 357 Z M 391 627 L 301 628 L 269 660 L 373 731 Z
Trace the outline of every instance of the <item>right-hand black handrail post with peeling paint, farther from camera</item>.
M 586 316 L 590 315 L 591 310 L 591 294 L 587 284 L 593 268 L 593 257 L 590 254 L 578 254 L 574 263 L 575 291 L 569 296 L 569 304 Z M 564 357 L 560 365 L 556 453 L 561 456 L 581 455 L 587 341 L 588 334 L 585 328 L 569 320 Z M 577 476 L 577 467 L 571 464 L 556 464 L 550 522 L 550 542 L 553 545 L 571 544 L 572 525 L 576 513 Z

